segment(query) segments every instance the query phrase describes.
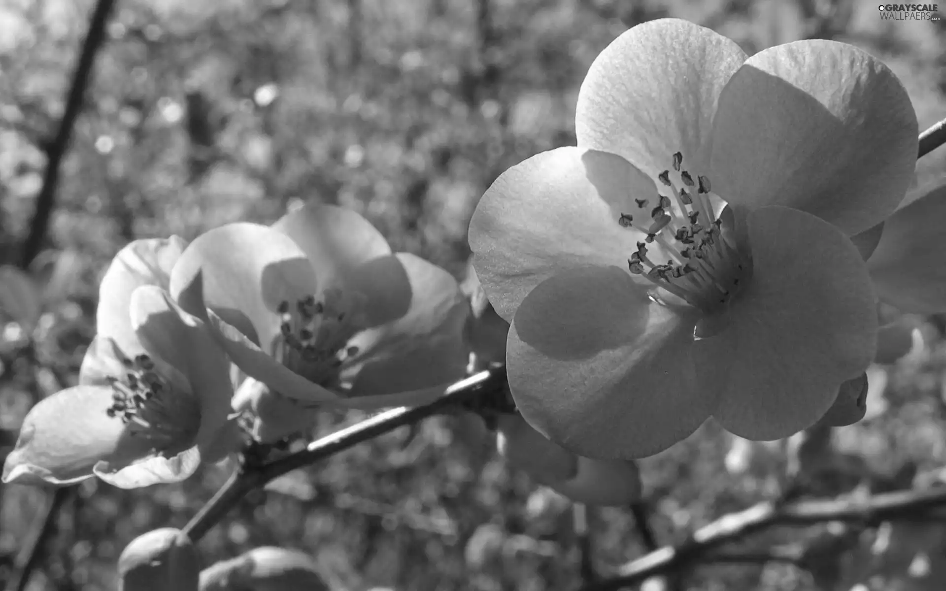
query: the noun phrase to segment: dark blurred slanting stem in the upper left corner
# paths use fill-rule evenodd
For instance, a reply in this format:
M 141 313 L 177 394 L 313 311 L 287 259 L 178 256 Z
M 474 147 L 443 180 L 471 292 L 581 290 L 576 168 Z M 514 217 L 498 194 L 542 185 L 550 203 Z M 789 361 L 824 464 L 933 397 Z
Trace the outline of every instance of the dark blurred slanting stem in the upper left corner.
M 33 212 L 33 218 L 29 223 L 29 234 L 26 235 L 26 242 L 23 246 L 23 252 L 20 258 L 20 266 L 26 269 L 36 258 L 43 248 L 43 241 L 46 236 L 46 229 L 49 226 L 49 218 L 52 217 L 53 206 L 56 203 L 56 189 L 59 185 L 60 165 L 63 156 L 69 148 L 69 140 L 72 137 L 72 130 L 76 125 L 76 119 L 82 110 L 82 104 L 85 97 L 85 89 L 89 85 L 89 77 L 92 73 L 92 67 L 96 62 L 96 54 L 105 42 L 106 25 L 108 24 L 109 14 L 114 8 L 115 0 L 98 0 L 96 8 L 92 12 L 89 21 L 89 31 L 85 35 L 85 41 L 82 43 L 82 50 L 79 53 L 79 61 L 72 75 L 72 83 L 69 87 L 69 94 L 65 99 L 65 109 L 62 112 L 59 129 L 56 130 L 56 136 L 49 144 L 46 150 L 46 169 L 43 175 L 43 185 L 36 196 L 36 207 Z

